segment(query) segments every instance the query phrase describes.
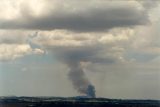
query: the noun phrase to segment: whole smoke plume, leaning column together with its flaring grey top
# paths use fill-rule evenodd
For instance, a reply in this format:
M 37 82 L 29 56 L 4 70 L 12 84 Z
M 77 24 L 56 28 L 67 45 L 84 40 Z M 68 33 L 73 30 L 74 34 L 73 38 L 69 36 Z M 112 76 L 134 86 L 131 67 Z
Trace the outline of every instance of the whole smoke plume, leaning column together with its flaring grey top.
M 92 97 L 88 94 L 88 87 L 93 88 L 90 91 L 95 94 L 93 84 L 88 80 L 81 62 L 93 62 L 97 47 L 81 46 L 81 47 L 52 47 L 59 61 L 62 61 L 69 68 L 68 78 L 72 82 L 73 88 L 82 95 Z M 95 95 L 94 95 L 95 96 Z

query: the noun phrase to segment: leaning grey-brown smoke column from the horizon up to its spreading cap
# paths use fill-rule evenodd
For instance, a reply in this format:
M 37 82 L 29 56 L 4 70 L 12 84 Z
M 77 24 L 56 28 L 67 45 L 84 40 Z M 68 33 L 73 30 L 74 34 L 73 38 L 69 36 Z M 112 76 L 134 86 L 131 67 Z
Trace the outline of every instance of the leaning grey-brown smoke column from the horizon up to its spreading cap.
M 95 97 L 95 88 L 85 76 L 80 62 L 68 62 L 67 65 L 70 68 L 69 79 L 72 81 L 74 88 L 88 97 Z

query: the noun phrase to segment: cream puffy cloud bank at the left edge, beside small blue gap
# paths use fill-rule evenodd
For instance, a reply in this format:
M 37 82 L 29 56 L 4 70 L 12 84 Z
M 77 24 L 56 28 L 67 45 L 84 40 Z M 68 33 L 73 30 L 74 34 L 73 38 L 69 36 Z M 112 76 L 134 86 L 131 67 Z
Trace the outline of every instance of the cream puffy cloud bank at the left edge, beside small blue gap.
M 0 31 L 0 61 L 11 61 L 26 55 L 44 54 L 39 48 L 32 48 L 28 39 L 29 31 L 1 30 Z

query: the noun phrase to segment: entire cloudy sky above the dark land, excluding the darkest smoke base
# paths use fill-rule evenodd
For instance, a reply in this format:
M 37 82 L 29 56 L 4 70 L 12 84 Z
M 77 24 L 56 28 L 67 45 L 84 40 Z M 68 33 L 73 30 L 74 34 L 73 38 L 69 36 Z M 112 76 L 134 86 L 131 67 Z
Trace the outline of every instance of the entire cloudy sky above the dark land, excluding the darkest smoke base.
M 159 0 L 0 2 L 0 96 L 160 99 Z

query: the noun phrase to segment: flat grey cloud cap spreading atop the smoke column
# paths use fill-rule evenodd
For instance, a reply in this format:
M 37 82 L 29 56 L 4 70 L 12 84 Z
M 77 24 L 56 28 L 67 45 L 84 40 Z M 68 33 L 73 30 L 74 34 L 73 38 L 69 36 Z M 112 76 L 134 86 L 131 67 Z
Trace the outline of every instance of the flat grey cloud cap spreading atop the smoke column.
M 51 50 L 59 60 L 65 63 L 92 62 L 92 63 L 116 63 L 117 58 L 112 55 L 103 57 L 102 50 L 108 50 L 104 46 L 81 46 L 81 47 L 52 47 Z M 106 54 L 106 53 L 103 53 Z

